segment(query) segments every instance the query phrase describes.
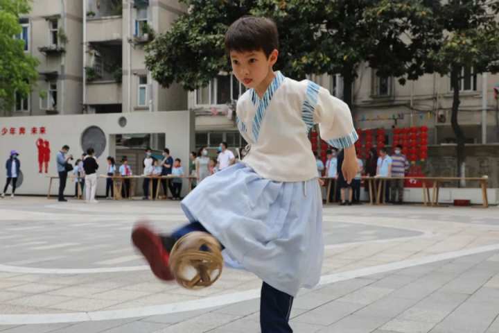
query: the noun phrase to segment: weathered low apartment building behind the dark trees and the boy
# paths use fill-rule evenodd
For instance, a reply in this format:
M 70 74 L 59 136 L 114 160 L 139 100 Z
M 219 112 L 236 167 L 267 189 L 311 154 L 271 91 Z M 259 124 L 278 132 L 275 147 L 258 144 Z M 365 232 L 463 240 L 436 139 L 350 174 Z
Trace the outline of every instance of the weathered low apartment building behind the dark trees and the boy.
M 499 142 L 498 100 L 493 89 L 499 89 L 499 76 L 487 74 L 485 86 L 483 76 L 473 74 L 472 68 L 462 69 L 462 76 L 458 119 L 467 142 L 482 143 L 484 106 L 487 110 L 485 142 Z M 339 74 L 309 78 L 342 99 L 343 82 Z M 483 88 L 485 99 L 482 99 Z M 189 108 L 196 114 L 196 146 L 216 147 L 222 141 L 233 147 L 245 145 L 230 107 L 244 91 L 233 75 L 222 73 L 207 87 L 189 93 Z M 450 77 L 439 74 L 428 74 L 401 85 L 396 78 L 376 76 L 376 71 L 365 64 L 358 69 L 358 78 L 353 84 L 353 118 L 357 128 L 385 128 L 390 133 L 393 127 L 424 125 L 429 128 L 430 144 L 453 142 L 452 101 Z

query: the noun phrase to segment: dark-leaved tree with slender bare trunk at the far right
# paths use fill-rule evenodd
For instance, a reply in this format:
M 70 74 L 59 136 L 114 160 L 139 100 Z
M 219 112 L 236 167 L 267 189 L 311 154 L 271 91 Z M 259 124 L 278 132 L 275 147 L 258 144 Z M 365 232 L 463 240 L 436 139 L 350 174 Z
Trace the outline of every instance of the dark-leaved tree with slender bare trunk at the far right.
M 450 123 L 457 142 L 459 177 L 464 176 L 462 169 L 466 158 L 466 137 L 458 122 L 462 73 L 465 68 L 471 70 L 471 75 L 499 70 L 498 13 L 498 1 L 451 0 L 442 6 L 438 15 L 437 24 L 444 34 L 438 41 L 439 48 L 429 56 L 435 71 L 441 75 L 450 74 L 453 89 Z

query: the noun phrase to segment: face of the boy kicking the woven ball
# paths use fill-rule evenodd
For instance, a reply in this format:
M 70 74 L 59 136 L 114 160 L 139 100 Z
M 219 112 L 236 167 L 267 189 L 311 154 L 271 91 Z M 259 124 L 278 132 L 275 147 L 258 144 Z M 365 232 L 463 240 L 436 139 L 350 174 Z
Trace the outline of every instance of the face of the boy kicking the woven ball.
M 268 77 L 277 61 L 279 51 L 274 50 L 267 58 L 263 50 L 230 51 L 232 71 L 245 87 L 256 88 Z

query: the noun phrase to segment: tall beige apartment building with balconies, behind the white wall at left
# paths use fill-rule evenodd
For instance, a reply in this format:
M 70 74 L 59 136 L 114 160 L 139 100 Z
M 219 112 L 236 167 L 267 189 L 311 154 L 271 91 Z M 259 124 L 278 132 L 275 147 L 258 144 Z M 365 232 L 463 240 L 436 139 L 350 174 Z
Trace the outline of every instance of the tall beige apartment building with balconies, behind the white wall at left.
M 25 51 L 40 60 L 28 99 L 5 116 L 185 110 L 187 94 L 164 89 L 144 64 L 152 33 L 186 10 L 170 0 L 37 0 L 21 17 Z

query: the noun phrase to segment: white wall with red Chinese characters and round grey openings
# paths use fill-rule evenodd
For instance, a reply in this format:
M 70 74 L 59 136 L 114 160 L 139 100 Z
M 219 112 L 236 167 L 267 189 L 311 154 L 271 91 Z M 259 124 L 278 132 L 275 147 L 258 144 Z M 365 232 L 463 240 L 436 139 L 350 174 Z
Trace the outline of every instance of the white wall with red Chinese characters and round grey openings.
M 119 124 L 119 119 L 122 117 L 126 119 L 126 125 L 123 127 Z M 133 133 L 164 133 L 171 155 L 185 161 L 182 163 L 184 173 L 189 173 L 187 161 L 189 161 L 189 152 L 194 148 L 194 117 L 189 111 L 172 111 L 3 118 L 0 123 L 0 174 L 6 175 L 5 161 L 8 159 L 10 150 L 15 149 L 20 154 L 21 172 L 24 177 L 16 193 L 47 194 L 49 178 L 46 176 L 58 174 L 55 163 L 56 154 L 64 144 L 67 144 L 70 147 L 69 153 L 75 157 L 75 160 L 80 157 L 83 151 L 81 135 L 89 126 L 98 126 L 106 137 L 105 149 L 98 157 L 99 175 L 105 174 L 106 157 L 115 155 L 114 142 L 110 141 L 111 138 L 114 139 L 116 134 Z M 14 134 L 11 134 L 11 131 Z M 36 142 L 40 138 L 48 141 L 51 149 L 48 173 L 44 170 L 39 173 Z M 3 181 L 1 184 L 3 186 Z M 184 184 L 184 189 L 186 187 L 187 182 Z M 55 181 L 51 192 L 56 194 L 57 191 L 58 181 Z M 68 182 L 65 194 L 74 195 L 73 182 Z M 105 194 L 105 179 L 98 180 L 97 194 Z

